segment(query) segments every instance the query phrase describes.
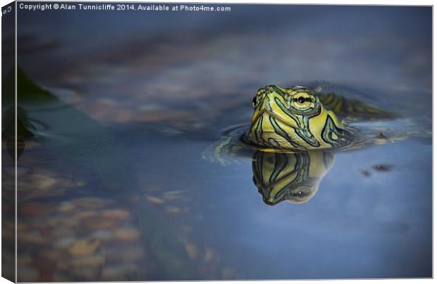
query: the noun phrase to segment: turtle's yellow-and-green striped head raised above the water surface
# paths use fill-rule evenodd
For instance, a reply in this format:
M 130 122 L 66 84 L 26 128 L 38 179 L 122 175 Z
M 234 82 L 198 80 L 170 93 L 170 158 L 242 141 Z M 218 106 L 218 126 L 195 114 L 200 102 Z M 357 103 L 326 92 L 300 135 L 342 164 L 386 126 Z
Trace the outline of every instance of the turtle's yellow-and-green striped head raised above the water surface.
M 255 94 L 245 140 L 259 147 L 298 151 L 347 147 L 352 133 L 305 87 L 269 85 Z

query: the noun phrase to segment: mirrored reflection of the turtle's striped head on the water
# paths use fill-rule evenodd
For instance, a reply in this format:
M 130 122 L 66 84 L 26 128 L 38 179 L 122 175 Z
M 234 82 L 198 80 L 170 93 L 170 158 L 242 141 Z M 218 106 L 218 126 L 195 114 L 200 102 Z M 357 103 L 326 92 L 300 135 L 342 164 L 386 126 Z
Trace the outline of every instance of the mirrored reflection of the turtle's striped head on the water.
M 333 166 L 331 152 L 254 153 L 252 171 L 265 204 L 275 205 L 284 200 L 304 203 L 319 190 L 319 183 Z

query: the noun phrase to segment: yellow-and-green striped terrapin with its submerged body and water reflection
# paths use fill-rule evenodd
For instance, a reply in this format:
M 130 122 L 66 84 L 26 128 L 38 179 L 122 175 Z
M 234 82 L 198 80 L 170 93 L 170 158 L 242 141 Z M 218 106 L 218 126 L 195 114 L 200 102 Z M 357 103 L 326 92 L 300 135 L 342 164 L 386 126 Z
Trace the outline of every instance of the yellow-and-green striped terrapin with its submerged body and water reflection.
M 225 164 L 237 155 L 252 154 L 254 184 L 269 205 L 314 197 L 333 165 L 333 150 L 405 138 L 388 138 L 383 132 L 344 123 L 395 118 L 395 114 L 307 87 L 260 88 L 252 106 L 250 126 L 227 131 L 226 139 L 211 145 L 204 157 Z

